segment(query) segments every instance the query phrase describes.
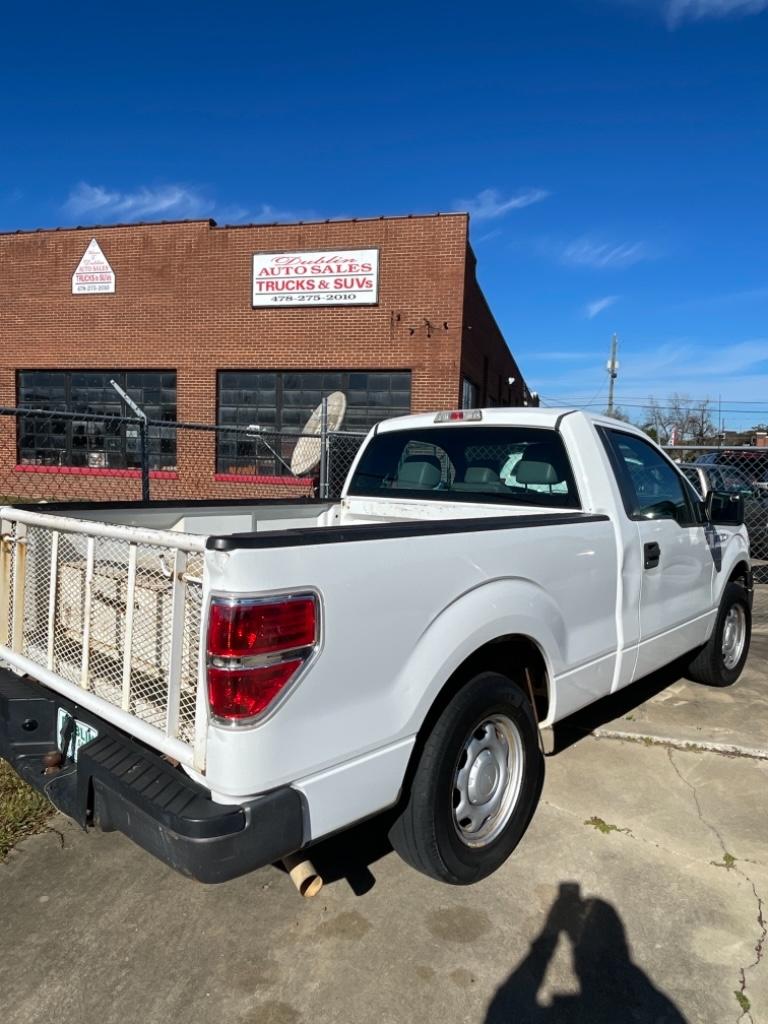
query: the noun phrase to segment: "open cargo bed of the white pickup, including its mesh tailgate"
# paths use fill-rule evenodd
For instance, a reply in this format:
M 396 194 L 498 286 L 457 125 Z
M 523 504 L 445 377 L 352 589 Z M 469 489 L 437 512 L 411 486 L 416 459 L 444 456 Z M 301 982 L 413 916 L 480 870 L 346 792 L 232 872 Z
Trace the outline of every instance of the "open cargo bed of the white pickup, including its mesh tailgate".
M 59 691 L 76 686 L 84 707 L 104 714 L 106 703 L 114 724 L 201 771 L 214 553 L 590 518 L 530 512 L 361 500 L 4 507 L 0 662 Z

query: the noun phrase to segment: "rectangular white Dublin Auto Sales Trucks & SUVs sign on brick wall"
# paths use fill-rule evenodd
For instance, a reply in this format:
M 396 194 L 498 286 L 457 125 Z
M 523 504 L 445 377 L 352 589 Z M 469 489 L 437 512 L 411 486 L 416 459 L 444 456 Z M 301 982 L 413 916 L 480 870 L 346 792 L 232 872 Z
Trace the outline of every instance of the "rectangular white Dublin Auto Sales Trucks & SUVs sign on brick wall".
M 378 249 L 254 254 L 255 307 L 371 306 L 378 301 Z

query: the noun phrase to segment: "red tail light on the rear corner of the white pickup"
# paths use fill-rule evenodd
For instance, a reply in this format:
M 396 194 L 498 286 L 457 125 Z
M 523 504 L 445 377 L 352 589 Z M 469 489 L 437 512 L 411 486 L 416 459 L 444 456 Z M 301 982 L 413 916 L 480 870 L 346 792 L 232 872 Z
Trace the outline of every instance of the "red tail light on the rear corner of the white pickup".
M 318 641 L 317 600 L 214 598 L 208 620 L 208 701 L 214 718 L 253 719 L 291 682 Z

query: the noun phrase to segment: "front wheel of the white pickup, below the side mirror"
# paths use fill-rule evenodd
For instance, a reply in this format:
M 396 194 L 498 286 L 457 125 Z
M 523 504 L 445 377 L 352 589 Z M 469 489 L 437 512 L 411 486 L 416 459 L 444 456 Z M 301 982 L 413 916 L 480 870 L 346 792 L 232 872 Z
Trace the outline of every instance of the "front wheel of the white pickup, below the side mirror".
M 720 602 L 712 636 L 688 664 L 686 675 L 708 686 L 730 686 L 741 675 L 750 653 L 752 609 L 744 588 L 729 583 Z

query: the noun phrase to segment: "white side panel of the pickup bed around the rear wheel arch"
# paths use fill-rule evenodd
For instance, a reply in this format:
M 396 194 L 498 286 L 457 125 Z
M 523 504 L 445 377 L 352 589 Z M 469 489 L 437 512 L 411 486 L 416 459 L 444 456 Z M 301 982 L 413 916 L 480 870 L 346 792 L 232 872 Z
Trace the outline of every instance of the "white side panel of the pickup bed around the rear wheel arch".
M 499 636 L 524 634 L 540 645 L 556 708 L 572 710 L 610 688 L 616 553 L 607 518 L 504 529 L 474 523 L 469 531 L 206 558 L 213 591 L 316 586 L 324 602 L 322 653 L 278 711 L 252 729 L 211 728 L 209 784 L 230 796 L 323 772 L 340 752 L 351 760 L 413 736 L 454 669 Z M 392 799 L 400 781 L 391 780 Z

